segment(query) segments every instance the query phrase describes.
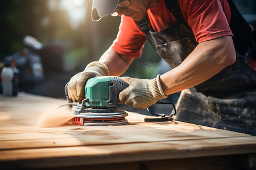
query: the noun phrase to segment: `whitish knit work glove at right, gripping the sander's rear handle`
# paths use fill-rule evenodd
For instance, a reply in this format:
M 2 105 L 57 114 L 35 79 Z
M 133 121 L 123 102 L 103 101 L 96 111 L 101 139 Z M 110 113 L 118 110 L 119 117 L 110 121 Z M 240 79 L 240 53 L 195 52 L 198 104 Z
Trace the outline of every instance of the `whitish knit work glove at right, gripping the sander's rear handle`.
M 129 84 L 125 90 L 120 92 L 119 100 L 122 103 L 131 105 L 134 108 L 146 109 L 156 101 L 165 99 L 160 84 L 160 75 L 154 79 L 136 79 L 130 77 L 122 77 L 122 80 Z

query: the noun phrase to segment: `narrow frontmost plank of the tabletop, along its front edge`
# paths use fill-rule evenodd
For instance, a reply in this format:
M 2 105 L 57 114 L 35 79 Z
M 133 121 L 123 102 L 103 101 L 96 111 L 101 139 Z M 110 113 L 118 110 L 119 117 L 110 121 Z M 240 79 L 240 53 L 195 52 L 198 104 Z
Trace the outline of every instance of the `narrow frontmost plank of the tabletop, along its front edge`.
M 142 139 L 136 139 L 132 137 L 127 138 L 113 138 L 105 137 L 102 141 L 102 137 L 90 136 L 90 140 L 87 137 L 70 137 L 70 138 L 47 138 L 47 139 L 35 139 L 35 140 L 16 140 L 16 141 L 2 141 L 0 142 L 0 150 L 14 150 L 20 148 L 43 148 L 43 147 L 67 147 L 67 146 L 94 146 L 94 145 L 109 145 L 109 144 L 121 144 L 121 143 L 143 143 L 143 142 L 164 142 L 164 141 L 186 141 L 186 140 L 199 140 L 207 138 L 168 138 L 168 139 L 159 139 L 159 138 L 148 138 L 145 137 Z M 210 139 L 210 138 L 209 138 Z M 217 138 L 214 138 L 217 139 Z M 222 138 L 218 138 L 222 139 Z

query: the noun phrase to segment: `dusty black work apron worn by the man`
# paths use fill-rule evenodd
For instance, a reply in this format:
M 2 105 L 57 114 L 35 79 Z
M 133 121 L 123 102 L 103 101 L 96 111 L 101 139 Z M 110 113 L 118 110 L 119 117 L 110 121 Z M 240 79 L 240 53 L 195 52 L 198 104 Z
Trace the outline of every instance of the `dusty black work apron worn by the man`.
M 232 11 L 230 28 L 232 32 L 240 35 L 241 30 L 237 29 L 236 23 L 247 23 L 234 4 L 229 2 L 229 5 Z M 175 16 L 176 24 L 159 32 L 152 30 L 146 17 L 137 24 L 146 33 L 156 52 L 174 68 L 195 49 L 197 42 L 187 23 L 181 19 L 177 2 L 166 1 L 166 7 Z M 255 54 L 251 48 L 255 44 L 251 40 L 251 33 L 248 33 L 248 27 L 249 25 L 243 32 L 249 35 L 245 38 L 251 41 L 246 42 L 249 45 L 241 42 L 239 36 L 233 37 L 237 52 L 233 65 L 204 83 L 181 92 L 176 106 L 176 120 L 256 135 L 256 71 L 247 64 L 249 57 Z M 240 45 L 243 45 L 243 48 Z M 246 54 L 238 53 L 242 50 L 245 50 Z

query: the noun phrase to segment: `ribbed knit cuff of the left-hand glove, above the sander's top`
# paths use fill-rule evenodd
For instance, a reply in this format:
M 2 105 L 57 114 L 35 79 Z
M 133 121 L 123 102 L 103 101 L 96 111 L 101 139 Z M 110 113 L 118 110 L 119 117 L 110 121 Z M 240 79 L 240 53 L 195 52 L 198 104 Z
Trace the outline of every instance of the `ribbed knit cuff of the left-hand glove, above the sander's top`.
M 102 76 L 108 76 L 109 75 L 109 69 L 108 67 L 101 62 L 94 61 L 89 63 L 84 69 L 84 71 L 96 71 L 100 73 Z

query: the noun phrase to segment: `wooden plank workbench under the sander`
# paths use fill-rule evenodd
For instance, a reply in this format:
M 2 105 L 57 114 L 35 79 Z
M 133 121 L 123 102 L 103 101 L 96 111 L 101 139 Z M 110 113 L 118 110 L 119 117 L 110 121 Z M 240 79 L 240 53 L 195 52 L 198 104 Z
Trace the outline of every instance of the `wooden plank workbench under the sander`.
M 149 123 L 131 112 L 129 124 L 121 126 L 39 126 L 47 108 L 54 116 L 52 108 L 63 103 L 22 92 L 0 95 L 0 169 L 229 169 L 256 152 L 251 135 L 178 121 Z

